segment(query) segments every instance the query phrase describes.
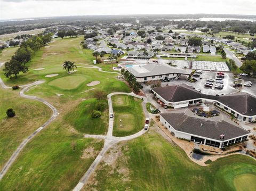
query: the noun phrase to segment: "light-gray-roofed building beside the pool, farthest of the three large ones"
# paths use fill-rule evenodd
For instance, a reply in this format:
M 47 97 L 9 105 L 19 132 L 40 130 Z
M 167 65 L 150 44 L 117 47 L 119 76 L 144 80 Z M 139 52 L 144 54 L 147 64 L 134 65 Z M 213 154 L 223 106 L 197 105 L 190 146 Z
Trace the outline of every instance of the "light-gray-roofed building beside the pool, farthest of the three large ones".
M 181 75 L 189 76 L 191 70 L 175 69 L 168 64 L 141 64 L 128 67 L 127 70 L 133 74 L 138 82 L 161 80 L 164 77 L 179 78 Z

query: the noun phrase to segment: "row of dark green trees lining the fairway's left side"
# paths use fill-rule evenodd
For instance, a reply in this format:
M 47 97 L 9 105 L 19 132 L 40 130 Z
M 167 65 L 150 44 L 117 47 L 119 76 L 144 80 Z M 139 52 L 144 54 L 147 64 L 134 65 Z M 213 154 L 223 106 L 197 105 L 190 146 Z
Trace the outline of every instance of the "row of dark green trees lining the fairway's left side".
M 5 77 L 10 78 L 15 76 L 15 78 L 17 78 L 20 72 L 26 73 L 28 71 L 26 63 L 31 60 L 31 56 L 41 47 L 50 43 L 51 39 L 52 34 L 49 33 L 46 35 L 35 35 L 28 40 L 23 41 L 11 60 L 5 62 L 3 69 Z

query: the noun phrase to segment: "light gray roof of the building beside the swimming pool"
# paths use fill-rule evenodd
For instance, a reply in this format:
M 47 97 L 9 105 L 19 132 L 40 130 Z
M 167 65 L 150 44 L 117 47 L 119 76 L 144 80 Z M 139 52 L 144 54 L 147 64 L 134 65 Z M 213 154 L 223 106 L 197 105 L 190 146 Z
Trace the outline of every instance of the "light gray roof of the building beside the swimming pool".
M 170 67 L 168 64 L 145 64 L 139 65 L 134 67 L 129 67 L 127 70 L 133 74 L 135 77 L 143 78 L 148 76 L 158 76 L 170 73 L 180 73 L 180 74 L 187 74 L 191 73 L 191 70 L 182 70 L 182 69 L 175 69 Z

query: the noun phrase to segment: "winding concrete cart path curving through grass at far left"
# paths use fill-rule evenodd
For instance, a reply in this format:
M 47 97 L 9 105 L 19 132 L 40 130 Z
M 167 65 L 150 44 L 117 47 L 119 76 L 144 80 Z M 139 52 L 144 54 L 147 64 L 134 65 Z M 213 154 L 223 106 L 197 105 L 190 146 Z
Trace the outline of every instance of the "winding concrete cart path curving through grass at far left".
M 3 63 L 0 64 L 0 67 L 2 67 Z M 12 154 L 12 156 L 10 157 L 10 159 L 7 161 L 7 163 L 4 165 L 3 169 L 0 172 L 0 180 L 3 178 L 3 176 L 5 175 L 5 173 L 9 170 L 9 168 L 11 167 L 12 163 L 17 159 L 19 153 L 22 151 L 22 149 L 26 146 L 26 144 L 33 139 L 41 130 L 43 130 L 48 124 L 50 124 L 59 114 L 57 109 L 51 105 L 49 102 L 46 102 L 44 99 L 36 97 L 36 96 L 30 96 L 30 95 L 26 95 L 24 94 L 25 92 L 27 92 L 27 90 L 29 90 L 30 88 L 33 88 L 39 84 L 44 83 L 44 81 L 35 81 L 32 84 L 28 84 L 28 85 L 23 85 L 20 87 L 23 87 L 23 89 L 20 91 L 20 96 L 21 97 L 25 97 L 28 99 L 33 99 L 39 102 L 42 102 L 43 104 L 47 105 L 48 107 L 50 107 L 50 109 L 52 110 L 53 114 L 51 116 L 51 118 L 49 120 L 47 120 L 41 127 L 39 127 L 38 129 L 36 129 L 33 134 L 29 135 L 25 140 L 23 140 L 23 142 L 18 146 L 17 150 Z M 3 80 L 0 78 L 0 84 L 4 89 L 9 89 L 11 87 L 8 87 L 4 84 Z

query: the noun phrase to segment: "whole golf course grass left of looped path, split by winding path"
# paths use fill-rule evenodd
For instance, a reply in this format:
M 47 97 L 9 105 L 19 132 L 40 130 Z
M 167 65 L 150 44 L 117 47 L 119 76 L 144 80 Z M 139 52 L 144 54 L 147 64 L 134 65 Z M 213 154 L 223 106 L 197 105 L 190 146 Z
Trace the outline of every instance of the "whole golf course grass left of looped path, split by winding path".
M 17 79 L 4 78 L 3 68 L 1 68 L 1 78 L 9 86 L 45 80 L 44 84 L 30 89 L 26 94 L 46 99 L 57 107 L 60 114 L 54 122 L 26 145 L 1 180 L 0 190 L 71 190 L 90 167 L 103 146 L 101 141 L 83 138 L 84 133 L 105 134 L 107 130 L 107 110 L 102 111 L 100 119 L 91 119 L 91 111 L 95 108 L 93 91 L 100 89 L 109 94 L 131 92 L 131 90 L 123 81 L 117 80 L 117 74 L 114 73 L 103 73 L 98 69 L 77 68 L 77 72 L 68 74 L 63 70 L 62 63 L 65 60 L 73 61 L 77 65 L 92 65 L 94 59 L 92 51 L 82 49 L 79 46 L 81 41 L 83 41 L 83 37 L 54 39 L 49 46 L 33 55 L 33 59 L 27 63 L 29 71 L 20 73 Z M 8 48 L 8 51 L 12 51 L 12 49 Z M 9 55 L 11 56 L 11 53 Z M 5 60 L 7 56 L 3 57 L 0 54 L 0 59 Z M 44 70 L 35 71 L 34 69 L 37 68 L 44 68 Z M 59 76 L 45 77 L 52 73 L 58 73 Z M 81 80 L 83 80 L 82 83 Z M 99 80 L 100 84 L 94 87 L 86 86 L 87 83 L 94 80 Z M 92 90 L 93 88 L 95 89 Z M 17 147 L 23 137 L 33 132 L 37 123 L 41 124 L 45 118 L 50 117 L 50 113 L 47 113 L 48 117 L 45 117 L 48 107 L 45 106 L 45 109 L 42 109 L 44 105 L 41 103 L 21 99 L 18 96 L 18 91 L 15 93 L 17 93 L 17 97 L 10 93 L 6 93 L 6 97 L 2 97 L 1 93 L 1 102 L 6 104 L 2 110 L 1 103 L 1 119 L 9 106 L 13 107 L 19 117 L 13 118 L 13 120 L 17 120 L 14 121 L 15 123 L 3 119 L 5 120 L 3 130 L 7 129 L 10 132 L 6 131 L 4 139 L 1 134 L 1 165 L 12 154 L 13 149 Z M 18 109 L 15 109 L 16 105 L 19 107 Z M 20 119 L 21 117 L 22 119 Z M 14 127 L 15 124 L 17 127 Z M 13 131 L 11 131 L 12 129 Z M 14 139 L 13 143 L 11 138 Z M 6 145 L 6 142 L 8 144 L 10 142 L 10 144 Z M 3 144 L 9 146 L 10 150 L 7 150 L 8 147 L 3 148 Z M 86 150 L 93 151 L 92 154 L 89 152 L 90 157 L 88 158 L 83 156 L 84 153 L 87 153 Z

